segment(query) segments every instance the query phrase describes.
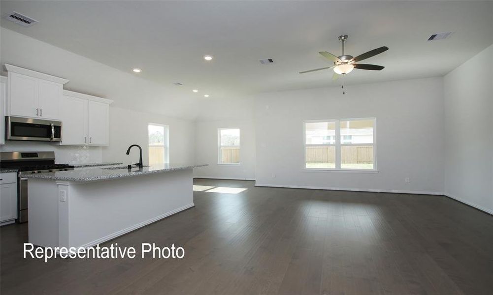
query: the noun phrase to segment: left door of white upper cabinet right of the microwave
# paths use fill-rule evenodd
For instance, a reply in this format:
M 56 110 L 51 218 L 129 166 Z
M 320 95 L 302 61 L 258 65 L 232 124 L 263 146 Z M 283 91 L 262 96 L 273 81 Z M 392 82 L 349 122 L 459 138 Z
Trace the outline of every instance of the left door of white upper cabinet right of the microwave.
M 62 145 L 84 145 L 87 138 L 87 100 L 64 96 L 60 101 Z

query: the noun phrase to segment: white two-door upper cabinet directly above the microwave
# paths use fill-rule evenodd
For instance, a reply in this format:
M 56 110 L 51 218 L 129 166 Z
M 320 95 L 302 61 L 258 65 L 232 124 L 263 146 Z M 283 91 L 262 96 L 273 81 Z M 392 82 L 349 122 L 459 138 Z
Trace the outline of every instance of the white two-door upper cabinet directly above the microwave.
M 60 120 L 63 85 L 69 80 L 5 64 L 7 115 Z

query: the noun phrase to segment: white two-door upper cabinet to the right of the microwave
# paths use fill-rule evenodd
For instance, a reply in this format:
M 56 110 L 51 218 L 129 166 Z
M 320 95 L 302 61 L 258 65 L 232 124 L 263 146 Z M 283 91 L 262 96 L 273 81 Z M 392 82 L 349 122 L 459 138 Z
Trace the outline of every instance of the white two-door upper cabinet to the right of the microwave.
M 61 145 L 108 145 L 110 99 L 64 91 Z

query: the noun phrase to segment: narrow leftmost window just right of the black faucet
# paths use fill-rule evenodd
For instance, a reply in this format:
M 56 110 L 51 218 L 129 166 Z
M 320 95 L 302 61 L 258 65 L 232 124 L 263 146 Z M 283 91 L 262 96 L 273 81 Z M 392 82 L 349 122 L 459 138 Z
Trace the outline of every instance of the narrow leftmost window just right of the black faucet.
M 169 127 L 149 123 L 148 131 L 149 165 L 170 163 Z

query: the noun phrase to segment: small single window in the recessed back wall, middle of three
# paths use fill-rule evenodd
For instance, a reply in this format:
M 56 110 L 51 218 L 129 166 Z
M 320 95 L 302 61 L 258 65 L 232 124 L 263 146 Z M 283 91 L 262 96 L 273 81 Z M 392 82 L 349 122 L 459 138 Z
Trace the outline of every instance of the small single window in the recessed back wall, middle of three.
M 240 164 L 240 129 L 217 129 L 218 164 Z

